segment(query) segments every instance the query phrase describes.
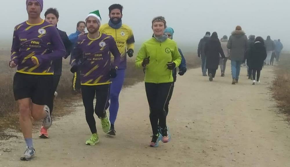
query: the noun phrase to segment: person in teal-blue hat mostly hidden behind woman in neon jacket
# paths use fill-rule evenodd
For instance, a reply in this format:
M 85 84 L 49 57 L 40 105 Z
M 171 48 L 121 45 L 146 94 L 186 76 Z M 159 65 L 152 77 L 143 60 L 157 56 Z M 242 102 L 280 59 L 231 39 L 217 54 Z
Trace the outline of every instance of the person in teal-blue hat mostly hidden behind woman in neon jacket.
M 174 30 L 173 30 L 173 28 L 171 28 L 171 27 L 167 27 L 167 28 L 164 30 L 164 34 L 166 34 L 166 35 L 168 36 L 168 38 L 173 39 L 173 34 L 174 34 Z M 180 65 L 178 66 L 178 68 L 179 68 L 179 73 L 178 73 L 178 74 L 179 74 L 180 76 L 183 76 L 184 73 L 186 72 L 186 61 L 185 61 L 185 58 L 184 58 L 184 56 L 183 56 L 183 54 L 182 54 L 180 48 L 178 48 L 178 51 L 179 51 L 179 53 L 180 53 L 180 55 L 181 55 L 181 63 L 180 63 Z M 169 99 L 171 99 L 171 96 L 172 96 L 172 93 L 173 93 L 174 82 L 176 82 L 176 75 L 177 75 L 177 69 L 175 68 L 175 69 L 172 70 L 173 85 L 172 85 L 172 89 L 171 89 L 171 91 L 169 92 L 169 96 L 168 96 Z M 166 111 L 167 114 L 168 114 L 168 105 L 169 105 L 169 101 L 170 101 L 170 100 L 168 100 L 168 103 L 165 104 L 165 111 Z

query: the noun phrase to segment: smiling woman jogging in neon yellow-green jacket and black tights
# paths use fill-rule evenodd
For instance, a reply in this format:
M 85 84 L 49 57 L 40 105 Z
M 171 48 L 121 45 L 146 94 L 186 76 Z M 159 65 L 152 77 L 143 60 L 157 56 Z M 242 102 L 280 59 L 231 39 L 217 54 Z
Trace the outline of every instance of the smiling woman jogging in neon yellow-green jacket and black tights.
M 145 89 L 153 131 L 149 144 L 151 147 L 159 146 L 160 140 L 167 143 L 171 139 L 166 125 L 167 113 L 164 106 L 169 101 L 168 95 L 173 89 L 172 70 L 181 63 L 177 44 L 164 34 L 165 28 L 164 17 L 158 16 L 152 20 L 154 34 L 143 43 L 135 61 L 136 67 L 145 68 Z

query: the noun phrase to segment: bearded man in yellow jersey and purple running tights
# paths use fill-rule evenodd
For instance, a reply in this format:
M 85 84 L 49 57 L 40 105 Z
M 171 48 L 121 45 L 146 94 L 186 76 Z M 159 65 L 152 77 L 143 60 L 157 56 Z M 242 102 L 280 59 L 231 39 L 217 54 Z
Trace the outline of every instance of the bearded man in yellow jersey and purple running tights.
M 113 4 L 109 7 L 109 23 L 104 24 L 100 27 L 100 32 L 111 35 L 114 37 L 119 52 L 121 53 L 121 61 L 118 66 L 117 77 L 112 79 L 110 86 L 110 122 L 111 129 L 107 133 L 108 135 L 116 135 L 114 128 L 115 120 L 119 109 L 119 94 L 121 92 L 124 78 L 125 69 L 127 66 L 127 54 L 129 57 L 133 56 L 134 53 L 134 35 L 130 27 L 122 24 L 123 6 L 120 4 Z M 114 60 L 114 57 L 111 58 Z M 112 61 L 111 64 L 114 62 Z M 108 106 L 107 106 L 108 107 Z

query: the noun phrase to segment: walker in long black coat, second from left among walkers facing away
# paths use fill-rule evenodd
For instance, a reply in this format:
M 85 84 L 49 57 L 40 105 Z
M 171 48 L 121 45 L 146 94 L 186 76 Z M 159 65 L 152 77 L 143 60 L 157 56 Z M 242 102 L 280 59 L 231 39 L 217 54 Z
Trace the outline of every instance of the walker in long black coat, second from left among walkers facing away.
M 220 63 L 220 55 L 225 58 L 224 51 L 218 39 L 218 34 L 213 32 L 211 39 L 205 44 L 204 49 L 206 55 L 206 68 L 209 69 L 209 74 L 212 74 L 212 78 L 215 77 L 215 72 L 218 69 Z M 210 80 L 212 80 L 210 78 Z

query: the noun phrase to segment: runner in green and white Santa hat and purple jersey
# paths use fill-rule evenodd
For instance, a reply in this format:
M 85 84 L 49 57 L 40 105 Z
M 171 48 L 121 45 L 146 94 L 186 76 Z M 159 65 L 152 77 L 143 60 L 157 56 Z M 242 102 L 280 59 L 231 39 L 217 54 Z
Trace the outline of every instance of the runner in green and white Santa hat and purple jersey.
M 105 133 L 110 130 L 106 104 L 110 94 L 111 78 L 117 76 L 121 54 L 112 36 L 99 32 L 101 16 L 99 10 L 91 12 L 86 19 L 88 34 L 80 36 L 73 50 L 71 72 L 80 70 L 81 93 L 86 121 L 92 133 L 87 145 L 99 142 L 94 112 L 100 118 Z M 111 64 L 111 53 L 114 63 Z M 93 101 L 96 96 L 95 107 Z

